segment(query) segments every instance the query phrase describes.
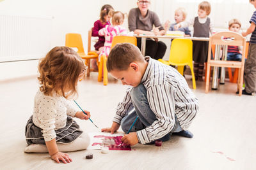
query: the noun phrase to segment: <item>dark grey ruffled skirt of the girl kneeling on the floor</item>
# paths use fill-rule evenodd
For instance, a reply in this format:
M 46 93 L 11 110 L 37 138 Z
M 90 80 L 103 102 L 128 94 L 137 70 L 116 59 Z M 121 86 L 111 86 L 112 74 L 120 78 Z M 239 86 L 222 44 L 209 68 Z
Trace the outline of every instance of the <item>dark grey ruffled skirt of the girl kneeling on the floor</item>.
M 79 125 L 69 116 L 67 117 L 67 125 L 55 130 L 55 132 L 57 143 L 71 143 L 83 133 L 79 129 Z M 26 124 L 25 136 L 28 145 L 45 144 L 42 129 L 33 123 L 33 116 L 29 118 Z

